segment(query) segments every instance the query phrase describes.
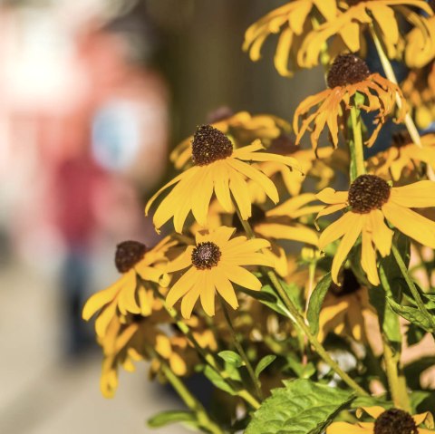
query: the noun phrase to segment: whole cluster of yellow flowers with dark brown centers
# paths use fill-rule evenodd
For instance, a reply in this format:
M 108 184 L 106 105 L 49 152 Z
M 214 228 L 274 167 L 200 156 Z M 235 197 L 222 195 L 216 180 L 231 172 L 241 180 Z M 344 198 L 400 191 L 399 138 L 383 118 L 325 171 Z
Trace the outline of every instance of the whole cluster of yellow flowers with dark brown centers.
M 420 135 L 414 123 L 426 127 L 435 119 L 432 15 L 423 0 L 292 0 L 247 29 L 244 50 L 252 60 L 270 34 L 279 34 L 277 71 L 289 76 L 321 62 L 325 90 L 299 104 L 293 132 L 275 116 L 225 113 L 173 150 L 170 160 L 179 174 L 145 208 L 156 230 L 169 236 L 152 248 L 121 243 L 115 257 L 121 278 L 83 309 L 85 320 L 96 314 L 105 396 L 116 390 L 119 367 L 130 371 L 140 360 L 151 361 L 151 373 L 169 381 L 169 372 L 180 377 L 195 366 L 211 368 L 227 384 L 220 388 L 229 388 L 248 409 L 258 408 L 289 372 L 313 376 L 308 360 L 322 359 L 358 394 L 374 391 L 371 381 L 352 378 L 325 350 L 333 334 L 366 348 L 363 355 L 355 352 L 356 359 L 372 354 L 378 364 L 373 351 L 383 340 L 378 356 L 383 354 L 388 381 L 380 381 L 383 391 L 390 388 L 394 407 L 363 407 L 375 422 L 333 422 L 328 434 L 434 432 L 430 413 L 411 417 L 415 409 L 398 377 L 401 362 L 391 358 L 379 306 L 369 297 L 374 289 L 384 304 L 388 297 L 394 303 L 391 279 L 397 275 L 385 265 L 393 258 L 409 286 L 410 309 L 416 305 L 431 324 L 424 330 L 435 330 L 432 307 L 399 246 L 403 238 L 414 252 L 435 249 L 435 135 Z M 387 78 L 363 60 L 369 38 Z M 415 68 L 401 86 L 390 59 Z M 364 158 L 391 118 L 406 129 L 393 135 L 388 148 Z M 303 149 L 307 131 L 312 146 Z M 334 182 L 342 187 L 331 187 Z M 311 299 L 323 282 L 327 294 L 317 299 L 313 319 Z M 240 357 L 237 369 L 246 369 L 251 388 L 231 389 L 243 380 L 216 357 L 233 349 L 238 355 L 231 352 L 232 362 L 234 354 Z M 281 358 L 281 367 L 260 383 L 252 365 L 270 352 Z M 314 372 L 307 374 L 310 363 Z M 195 409 L 202 414 L 202 407 Z M 226 432 L 213 420 L 201 423 L 208 432 Z M 423 423 L 429 429 L 417 428 Z

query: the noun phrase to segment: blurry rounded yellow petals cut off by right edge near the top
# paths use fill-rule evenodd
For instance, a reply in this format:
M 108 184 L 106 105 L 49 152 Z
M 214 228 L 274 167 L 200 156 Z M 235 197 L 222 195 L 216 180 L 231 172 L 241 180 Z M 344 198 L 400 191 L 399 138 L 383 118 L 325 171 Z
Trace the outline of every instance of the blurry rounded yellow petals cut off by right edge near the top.
M 405 62 L 411 68 L 421 68 L 435 57 L 435 16 L 406 35 Z

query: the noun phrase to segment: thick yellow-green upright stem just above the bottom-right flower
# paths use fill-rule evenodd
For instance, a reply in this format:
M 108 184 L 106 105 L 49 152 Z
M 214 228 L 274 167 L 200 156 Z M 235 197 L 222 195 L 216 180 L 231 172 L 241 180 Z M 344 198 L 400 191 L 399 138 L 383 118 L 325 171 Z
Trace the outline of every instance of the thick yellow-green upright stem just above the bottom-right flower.
M 399 409 L 411 412 L 411 401 L 406 387 L 406 381 L 399 374 L 399 363 L 401 352 L 393 352 L 390 342 L 382 335 L 383 361 L 387 374 L 388 385 L 390 386 L 391 398 L 394 406 Z

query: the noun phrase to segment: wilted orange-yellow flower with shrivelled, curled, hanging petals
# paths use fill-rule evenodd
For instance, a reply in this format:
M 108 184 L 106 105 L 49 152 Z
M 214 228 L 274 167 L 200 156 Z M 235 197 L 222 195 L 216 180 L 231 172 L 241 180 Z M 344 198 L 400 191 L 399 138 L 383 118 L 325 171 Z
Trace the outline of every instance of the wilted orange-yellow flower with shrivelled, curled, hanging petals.
M 396 122 L 402 121 L 406 114 L 406 101 L 399 87 L 378 73 L 371 74 L 366 63 L 353 54 L 340 55 L 334 60 L 328 72 L 327 82 L 329 89 L 309 96 L 297 107 L 293 121 L 296 144 L 314 122 L 314 130 L 311 133 L 313 148 L 317 148 L 319 136 L 325 126 L 330 130 L 333 146 L 336 148 L 338 130 L 343 127 L 343 111 L 354 105 L 353 97 L 357 93 L 365 99 L 364 103 L 358 106 L 360 110 L 378 111 L 374 121 L 376 128 L 366 141 L 367 146 L 372 146 L 385 118 L 392 113 L 396 104 L 396 92 L 402 101 Z M 310 113 L 313 108 L 315 111 Z M 300 118 L 303 120 L 301 126 Z

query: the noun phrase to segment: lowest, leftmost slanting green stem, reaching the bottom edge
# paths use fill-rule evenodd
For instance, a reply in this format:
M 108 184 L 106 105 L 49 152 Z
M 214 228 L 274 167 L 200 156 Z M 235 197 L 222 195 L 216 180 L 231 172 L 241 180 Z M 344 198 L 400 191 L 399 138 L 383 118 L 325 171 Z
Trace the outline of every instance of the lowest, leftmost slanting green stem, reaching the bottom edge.
M 181 379 L 170 369 L 168 363 L 159 357 L 159 354 L 150 348 L 150 346 L 147 347 L 147 350 L 150 352 L 153 358 L 159 359 L 161 371 L 165 375 L 166 379 L 170 382 L 174 390 L 177 391 L 181 400 L 184 401 L 190 410 L 195 412 L 197 415 L 198 424 L 201 426 L 201 428 L 206 429 L 207 432 L 212 434 L 224 434 L 225 431 L 220 429 L 218 425 L 209 418 L 208 413 L 202 404 L 192 395 L 192 393 L 190 393 L 184 382 L 181 381 Z

